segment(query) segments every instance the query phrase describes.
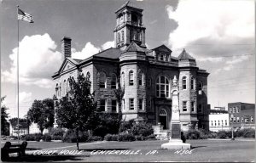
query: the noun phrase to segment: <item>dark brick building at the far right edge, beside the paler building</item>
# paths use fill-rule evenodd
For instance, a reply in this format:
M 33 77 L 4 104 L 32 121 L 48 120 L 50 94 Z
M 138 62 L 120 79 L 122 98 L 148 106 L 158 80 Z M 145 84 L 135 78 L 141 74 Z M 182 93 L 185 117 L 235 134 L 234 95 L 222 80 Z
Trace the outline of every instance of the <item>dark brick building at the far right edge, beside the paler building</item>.
M 255 104 L 229 103 L 230 126 L 235 128 L 255 128 Z M 233 117 L 232 117 L 233 115 Z

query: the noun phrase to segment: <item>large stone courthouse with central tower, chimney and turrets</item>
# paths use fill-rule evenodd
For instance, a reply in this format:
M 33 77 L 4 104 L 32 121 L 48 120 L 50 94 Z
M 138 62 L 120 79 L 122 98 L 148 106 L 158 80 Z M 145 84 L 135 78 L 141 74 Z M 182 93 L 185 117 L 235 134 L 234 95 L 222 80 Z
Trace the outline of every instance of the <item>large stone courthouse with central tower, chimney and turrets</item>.
M 68 92 L 68 78 L 80 73 L 90 76 L 91 91 L 96 93 L 102 112 L 117 112 L 114 90 L 125 87 L 122 115 L 125 121 L 151 121 L 170 129 L 172 119 L 172 80 L 177 77 L 179 110 L 183 130 L 208 128 L 207 73 L 183 49 L 176 58 L 165 45 L 148 49 L 145 44 L 143 9 L 125 3 L 116 12 L 114 48 L 88 59 L 71 58 L 71 39 L 61 40 L 63 63 L 53 77 L 55 96 Z

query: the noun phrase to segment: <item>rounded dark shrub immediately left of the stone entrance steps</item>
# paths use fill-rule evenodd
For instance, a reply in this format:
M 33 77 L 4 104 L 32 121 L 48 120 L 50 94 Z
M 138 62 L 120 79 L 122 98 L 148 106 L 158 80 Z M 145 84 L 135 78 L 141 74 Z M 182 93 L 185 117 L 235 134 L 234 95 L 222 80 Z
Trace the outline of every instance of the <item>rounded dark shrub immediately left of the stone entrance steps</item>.
M 133 135 L 142 135 L 143 137 L 147 137 L 148 135 L 153 134 L 154 130 L 152 125 L 142 121 L 131 126 L 131 133 Z

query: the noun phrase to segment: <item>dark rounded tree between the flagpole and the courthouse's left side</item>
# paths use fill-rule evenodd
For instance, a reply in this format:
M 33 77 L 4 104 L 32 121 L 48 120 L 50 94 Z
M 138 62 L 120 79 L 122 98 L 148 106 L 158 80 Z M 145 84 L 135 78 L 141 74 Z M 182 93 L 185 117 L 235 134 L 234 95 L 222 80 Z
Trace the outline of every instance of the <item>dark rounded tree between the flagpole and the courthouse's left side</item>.
M 28 121 L 37 123 L 42 134 L 44 128 L 53 126 L 54 118 L 54 101 L 51 98 L 45 98 L 43 101 L 35 99 L 27 112 Z

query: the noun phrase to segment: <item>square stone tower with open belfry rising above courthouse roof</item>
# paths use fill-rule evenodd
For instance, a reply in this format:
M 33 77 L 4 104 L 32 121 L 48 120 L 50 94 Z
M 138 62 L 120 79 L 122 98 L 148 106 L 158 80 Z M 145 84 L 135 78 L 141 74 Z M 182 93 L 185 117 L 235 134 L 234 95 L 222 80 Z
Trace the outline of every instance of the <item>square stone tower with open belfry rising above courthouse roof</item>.
M 137 8 L 133 3 L 128 1 L 116 14 L 116 26 L 114 33 L 114 47 L 125 49 L 131 42 L 146 48 L 145 46 L 145 30 L 143 26 L 143 9 Z

